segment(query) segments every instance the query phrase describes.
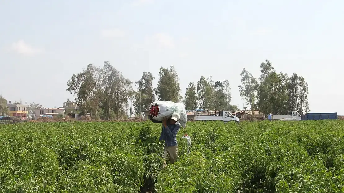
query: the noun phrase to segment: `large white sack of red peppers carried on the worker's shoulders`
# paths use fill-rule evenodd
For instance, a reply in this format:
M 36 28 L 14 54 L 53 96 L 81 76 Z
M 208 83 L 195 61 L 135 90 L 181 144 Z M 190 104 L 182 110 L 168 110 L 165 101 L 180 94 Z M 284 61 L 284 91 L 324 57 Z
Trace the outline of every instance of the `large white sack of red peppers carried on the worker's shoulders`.
M 186 111 L 183 104 L 175 103 L 172 101 L 155 101 L 151 104 L 149 109 L 149 118 L 153 122 L 161 122 L 164 117 L 170 117 L 173 113 L 179 113 L 180 114 L 180 125 L 185 128 L 186 126 Z

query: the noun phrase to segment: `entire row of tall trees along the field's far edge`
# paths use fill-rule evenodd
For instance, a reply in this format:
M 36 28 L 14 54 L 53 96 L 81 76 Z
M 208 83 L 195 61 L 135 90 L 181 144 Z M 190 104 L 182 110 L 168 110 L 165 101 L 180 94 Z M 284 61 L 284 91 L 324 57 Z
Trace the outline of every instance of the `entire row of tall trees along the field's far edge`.
M 286 114 L 291 110 L 299 113 L 309 111 L 308 85 L 302 76 L 293 73 L 277 73 L 269 60 L 260 64 L 259 83 L 255 77 L 243 69 L 239 92 L 251 110 L 264 114 Z M 88 64 L 78 74 L 73 74 L 67 82 L 67 91 L 76 96 L 80 113 L 91 113 L 97 118 L 111 119 L 126 116 L 129 111 L 139 115 L 147 111 L 151 102 L 170 100 L 184 102 L 185 109 L 238 110 L 231 105 L 231 93 L 228 80 L 216 80 L 201 76 L 197 83 L 190 82 L 185 96 L 181 96 L 178 74 L 174 67 L 160 67 L 158 85 L 153 87 L 155 77 L 150 72 L 143 72 L 141 79 L 133 83 L 122 72 L 116 70 L 108 61 L 103 67 Z M 136 91 L 132 85 L 137 86 Z M 132 102 L 133 109 L 129 108 Z

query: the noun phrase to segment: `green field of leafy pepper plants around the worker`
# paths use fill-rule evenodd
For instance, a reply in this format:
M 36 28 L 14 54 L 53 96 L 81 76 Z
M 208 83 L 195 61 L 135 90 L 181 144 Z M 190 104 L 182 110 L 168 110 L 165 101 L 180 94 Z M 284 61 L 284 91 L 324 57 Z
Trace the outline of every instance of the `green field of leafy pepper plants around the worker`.
M 344 121 L 186 125 L 165 169 L 150 121 L 0 125 L 0 192 L 344 192 Z

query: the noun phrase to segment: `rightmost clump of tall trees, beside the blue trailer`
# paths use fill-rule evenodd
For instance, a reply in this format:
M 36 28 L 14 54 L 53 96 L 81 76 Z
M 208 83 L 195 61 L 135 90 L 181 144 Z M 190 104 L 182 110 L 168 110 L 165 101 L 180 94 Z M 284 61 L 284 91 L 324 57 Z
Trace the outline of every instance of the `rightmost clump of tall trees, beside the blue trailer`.
M 290 77 L 277 73 L 269 60 L 260 64 L 259 83 L 245 68 L 241 71 L 240 96 L 251 106 L 264 114 L 300 114 L 310 111 L 308 105 L 308 84 L 302 76 L 293 73 Z

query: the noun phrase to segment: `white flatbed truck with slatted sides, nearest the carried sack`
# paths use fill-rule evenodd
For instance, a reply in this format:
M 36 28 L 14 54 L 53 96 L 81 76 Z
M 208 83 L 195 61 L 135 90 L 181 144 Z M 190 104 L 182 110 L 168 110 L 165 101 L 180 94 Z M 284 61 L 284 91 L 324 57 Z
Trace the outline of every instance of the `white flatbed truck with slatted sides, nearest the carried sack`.
M 236 121 L 237 123 L 240 122 L 239 118 L 234 116 L 229 111 L 197 111 L 194 113 L 195 121 Z

